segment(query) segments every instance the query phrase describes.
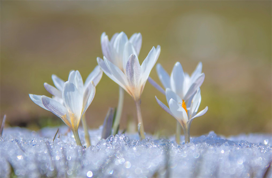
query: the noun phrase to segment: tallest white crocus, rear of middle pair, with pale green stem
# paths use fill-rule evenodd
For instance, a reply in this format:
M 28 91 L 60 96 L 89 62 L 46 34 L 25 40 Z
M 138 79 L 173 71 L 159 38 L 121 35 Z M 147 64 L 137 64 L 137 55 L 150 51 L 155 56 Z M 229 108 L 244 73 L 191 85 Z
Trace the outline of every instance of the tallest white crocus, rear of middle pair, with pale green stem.
M 142 45 L 141 33 L 133 34 L 130 39 L 124 32 L 115 33 L 109 40 L 106 33 L 101 35 L 101 48 L 103 55 L 121 71 L 125 72 L 128 57 L 131 54 L 139 55 Z M 113 123 L 113 134 L 118 132 L 124 102 L 124 90 L 119 87 L 118 106 Z

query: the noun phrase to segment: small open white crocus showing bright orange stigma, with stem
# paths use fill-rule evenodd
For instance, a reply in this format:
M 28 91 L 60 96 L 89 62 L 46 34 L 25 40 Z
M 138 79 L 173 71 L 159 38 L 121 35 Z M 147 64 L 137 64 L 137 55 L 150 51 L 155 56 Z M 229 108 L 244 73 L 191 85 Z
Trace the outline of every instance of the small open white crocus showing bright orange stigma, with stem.
M 197 113 L 201 102 L 200 88 L 197 89 L 196 94 L 192 97 L 189 103 L 190 107 L 187 107 L 185 101 L 169 88 L 166 89 L 166 99 L 169 108 L 156 97 L 157 103 L 179 122 L 184 131 L 185 143 L 189 143 L 190 126 L 193 119 L 204 115 L 208 111 L 208 106 L 206 106 L 204 110 Z

